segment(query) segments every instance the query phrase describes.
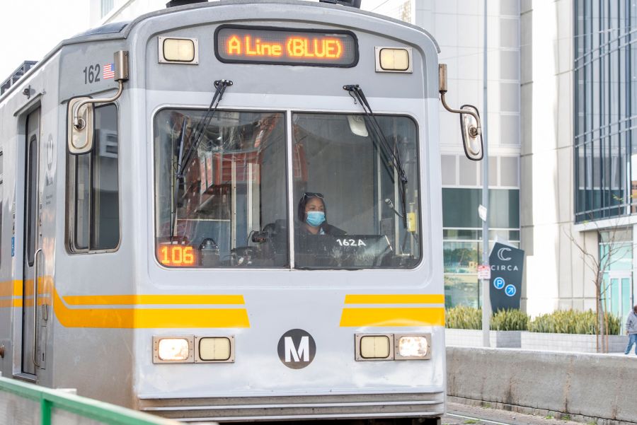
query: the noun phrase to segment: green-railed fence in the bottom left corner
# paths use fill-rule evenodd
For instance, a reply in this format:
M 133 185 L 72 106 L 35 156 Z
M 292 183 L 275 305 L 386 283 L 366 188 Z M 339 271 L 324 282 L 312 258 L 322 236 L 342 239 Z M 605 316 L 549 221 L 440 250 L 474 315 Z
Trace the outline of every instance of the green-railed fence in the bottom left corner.
M 7 417 L 2 418 L 5 414 Z M 16 418 L 19 416 L 20 418 Z M 60 390 L 0 377 L 2 424 L 175 425 L 177 422 Z

